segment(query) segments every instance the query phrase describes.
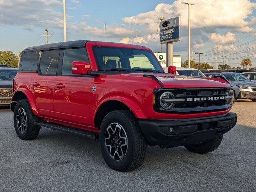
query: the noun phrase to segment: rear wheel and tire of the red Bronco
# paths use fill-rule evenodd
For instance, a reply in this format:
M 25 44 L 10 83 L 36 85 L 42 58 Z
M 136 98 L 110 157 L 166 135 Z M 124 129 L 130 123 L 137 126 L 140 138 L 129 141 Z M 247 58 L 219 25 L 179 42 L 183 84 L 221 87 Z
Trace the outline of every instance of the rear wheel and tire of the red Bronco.
M 18 137 L 22 140 L 32 140 L 38 136 L 41 126 L 34 125 L 35 116 L 30 108 L 28 100 L 19 100 L 14 108 L 14 128 Z

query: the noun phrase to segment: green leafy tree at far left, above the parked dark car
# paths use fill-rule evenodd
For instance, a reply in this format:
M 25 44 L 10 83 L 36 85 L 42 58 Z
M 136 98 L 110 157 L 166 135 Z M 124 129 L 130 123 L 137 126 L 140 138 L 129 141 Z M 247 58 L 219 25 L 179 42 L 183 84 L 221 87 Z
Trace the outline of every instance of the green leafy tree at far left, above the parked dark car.
M 18 68 L 19 57 L 11 51 L 0 51 L 0 62 L 13 68 Z

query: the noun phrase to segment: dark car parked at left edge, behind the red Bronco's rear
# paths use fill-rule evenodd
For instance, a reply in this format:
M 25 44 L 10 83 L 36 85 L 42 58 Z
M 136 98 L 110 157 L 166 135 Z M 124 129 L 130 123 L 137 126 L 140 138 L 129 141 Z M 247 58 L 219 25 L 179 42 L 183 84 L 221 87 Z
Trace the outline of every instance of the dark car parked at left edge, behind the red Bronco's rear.
M 12 99 L 12 80 L 16 76 L 16 68 L 0 68 L 0 106 L 10 105 Z

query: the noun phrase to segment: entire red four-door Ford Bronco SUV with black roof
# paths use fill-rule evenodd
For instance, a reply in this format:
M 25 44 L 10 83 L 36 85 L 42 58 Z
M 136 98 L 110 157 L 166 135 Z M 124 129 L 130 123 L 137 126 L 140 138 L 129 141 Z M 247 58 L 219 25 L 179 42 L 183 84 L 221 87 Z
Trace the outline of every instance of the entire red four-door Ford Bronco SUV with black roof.
M 99 138 L 118 171 L 138 168 L 148 145 L 215 150 L 236 125 L 233 88 L 171 70 L 144 46 L 80 40 L 26 48 L 13 82 L 15 131 L 22 140 L 41 127 Z

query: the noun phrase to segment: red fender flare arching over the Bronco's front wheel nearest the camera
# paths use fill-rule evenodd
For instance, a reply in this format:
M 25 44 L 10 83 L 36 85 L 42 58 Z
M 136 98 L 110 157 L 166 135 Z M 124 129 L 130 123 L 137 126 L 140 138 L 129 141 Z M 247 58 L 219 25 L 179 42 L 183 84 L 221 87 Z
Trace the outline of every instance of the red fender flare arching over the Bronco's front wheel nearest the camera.
M 102 106 L 102 104 L 104 104 L 105 102 L 107 101 L 119 101 L 119 102 L 122 102 L 123 104 L 125 104 L 131 111 L 132 113 L 134 114 L 134 116 L 136 118 L 139 118 L 139 119 L 147 119 L 148 117 L 144 114 L 142 108 L 136 103 L 134 102 L 133 100 L 129 99 L 129 98 L 126 98 L 126 97 L 122 97 L 122 96 L 111 96 L 111 97 L 108 97 L 104 100 L 102 100 L 97 108 L 96 108 L 96 111 L 98 111 L 98 109 L 100 108 L 100 106 Z M 95 119 L 95 116 L 96 116 L 96 113 L 94 114 L 94 118 Z

